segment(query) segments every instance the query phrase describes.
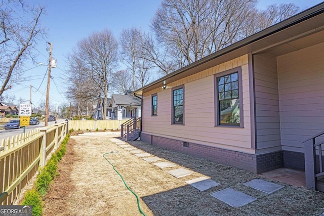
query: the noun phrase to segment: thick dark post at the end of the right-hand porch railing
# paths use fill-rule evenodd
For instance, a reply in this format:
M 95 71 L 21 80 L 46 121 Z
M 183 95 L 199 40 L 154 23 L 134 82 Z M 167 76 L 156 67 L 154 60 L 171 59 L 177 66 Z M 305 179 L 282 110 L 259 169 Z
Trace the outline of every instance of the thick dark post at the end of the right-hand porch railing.
M 316 180 L 315 180 L 315 148 L 314 148 L 315 138 L 305 142 L 304 151 L 305 151 L 305 180 L 306 187 L 315 190 L 316 189 Z

